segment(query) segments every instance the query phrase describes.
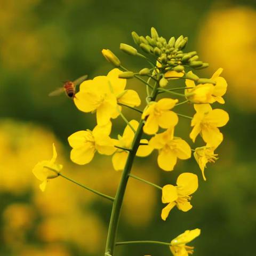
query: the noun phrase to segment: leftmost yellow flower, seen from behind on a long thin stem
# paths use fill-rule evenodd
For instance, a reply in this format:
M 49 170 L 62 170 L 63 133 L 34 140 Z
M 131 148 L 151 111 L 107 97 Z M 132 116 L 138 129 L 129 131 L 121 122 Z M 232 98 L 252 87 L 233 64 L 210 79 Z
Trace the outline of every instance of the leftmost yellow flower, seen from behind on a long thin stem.
M 52 144 L 53 154 L 52 159 L 49 161 L 45 160 L 36 164 L 33 169 L 33 173 L 38 180 L 41 180 L 42 183 L 39 185 L 39 188 L 44 191 L 49 179 L 54 179 L 59 176 L 59 172 L 62 169 L 61 164 L 55 164 L 57 158 L 57 151 L 55 149 L 54 143 Z

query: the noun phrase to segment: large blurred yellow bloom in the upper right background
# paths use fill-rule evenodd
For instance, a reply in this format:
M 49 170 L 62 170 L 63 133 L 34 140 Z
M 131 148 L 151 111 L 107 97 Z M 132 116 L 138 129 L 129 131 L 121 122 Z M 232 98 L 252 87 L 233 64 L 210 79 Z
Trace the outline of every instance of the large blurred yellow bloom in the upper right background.
M 247 6 L 212 9 L 202 22 L 198 43 L 210 69 L 221 66 L 229 81 L 229 94 L 239 109 L 256 110 L 256 11 Z

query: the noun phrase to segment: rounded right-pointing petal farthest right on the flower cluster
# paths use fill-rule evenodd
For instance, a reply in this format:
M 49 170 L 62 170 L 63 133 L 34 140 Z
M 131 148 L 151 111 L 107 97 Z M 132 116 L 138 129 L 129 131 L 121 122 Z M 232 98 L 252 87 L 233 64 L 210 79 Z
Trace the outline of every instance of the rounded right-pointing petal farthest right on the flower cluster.
M 225 110 L 213 109 L 204 118 L 204 122 L 210 123 L 213 126 L 222 127 L 229 121 L 229 115 Z

